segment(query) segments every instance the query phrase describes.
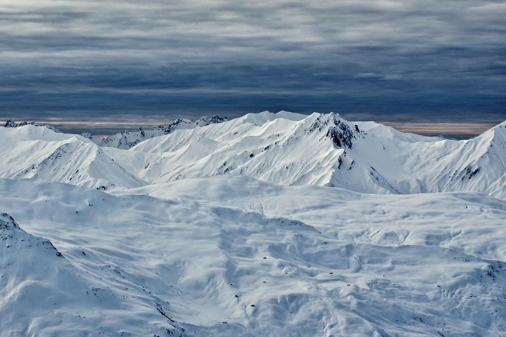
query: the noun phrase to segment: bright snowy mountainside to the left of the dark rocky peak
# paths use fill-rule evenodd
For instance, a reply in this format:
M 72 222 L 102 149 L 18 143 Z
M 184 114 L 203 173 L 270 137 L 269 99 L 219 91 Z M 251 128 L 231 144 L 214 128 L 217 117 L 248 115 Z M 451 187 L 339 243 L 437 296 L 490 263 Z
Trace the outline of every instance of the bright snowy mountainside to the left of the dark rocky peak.
M 319 116 L 293 121 L 264 112 L 177 130 L 134 147 L 131 152 L 147 153 L 143 167 L 135 172 L 150 182 L 239 173 L 287 185 L 323 185 L 343 150 L 331 141 L 319 141 L 321 133 L 308 131 Z M 132 156 L 106 152 L 121 165 L 128 165 Z

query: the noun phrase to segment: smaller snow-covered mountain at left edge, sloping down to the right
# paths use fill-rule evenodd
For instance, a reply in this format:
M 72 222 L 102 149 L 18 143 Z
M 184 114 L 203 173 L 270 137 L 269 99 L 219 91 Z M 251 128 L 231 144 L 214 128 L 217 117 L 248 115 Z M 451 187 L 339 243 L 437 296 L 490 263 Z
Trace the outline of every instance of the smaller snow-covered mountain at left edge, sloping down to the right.
M 0 128 L 3 146 L 0 176 L 41 178 L 81 186 L 108 188 L 145 184 L 86 138 L 25 125 Z

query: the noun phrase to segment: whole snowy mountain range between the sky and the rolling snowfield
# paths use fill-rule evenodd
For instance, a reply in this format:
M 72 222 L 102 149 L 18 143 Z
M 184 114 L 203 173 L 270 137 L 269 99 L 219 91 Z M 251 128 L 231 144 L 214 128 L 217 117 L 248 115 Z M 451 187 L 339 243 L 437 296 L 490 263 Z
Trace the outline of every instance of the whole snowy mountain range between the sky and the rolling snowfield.
M 203 124 L 207 125 L 195 127 Z M 21 142 L 6 140 L 10 141 L 6 152 L 18 150 L 9 165 L 0 168 L 0 176 L 41 176 L 88 187 L 131 188 L 242 174 L 276 184 L 343 187 L 365 193 L 470 190 L 506 198 L 505 126 L 506 122 L 501 123 L 473 139 L 451 140 L 402 133 L 374 122 L 349 122 L 333 113 L 263 112 L 226 122 L 217 116 L 195 123 L 180 120 L 152 129 L 153 133 L 140 130 L 103 140 L 128 148 L 148 138 L 122 151 L 96 147 L 76 135 L 25 131 L 39 129 L 25 125 L 15 132 L 0 130 L 0 136 L 8 138 L 40 134 L 35 143 L 25 142 L 26 137 Z M 154 136 L 162 131 L 167 134 Z M 57 138 L 64 140 L 55 143 Z M 37 150 L 27 149 L 27 156 L 18 156 L 24 147 Z M 79 159 L 70 158 L 74 156 Z M 44 173 L 48 162 L 52 171 Z

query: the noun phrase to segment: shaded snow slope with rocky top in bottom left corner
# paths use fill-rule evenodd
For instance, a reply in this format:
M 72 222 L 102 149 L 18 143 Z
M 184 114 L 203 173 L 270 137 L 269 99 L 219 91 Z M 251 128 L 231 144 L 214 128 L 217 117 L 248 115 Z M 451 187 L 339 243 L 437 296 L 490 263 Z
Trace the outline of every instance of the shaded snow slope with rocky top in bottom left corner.
M 129 284 L 130 291 L 111 290 L 109 282 L 72 265 L 48 239 L 25 232 L 7 213 L 0 213 L 0 238 L 0 335 L 145 335 L 177 329 L 144 303 L 146 295 L 135 284 Z

